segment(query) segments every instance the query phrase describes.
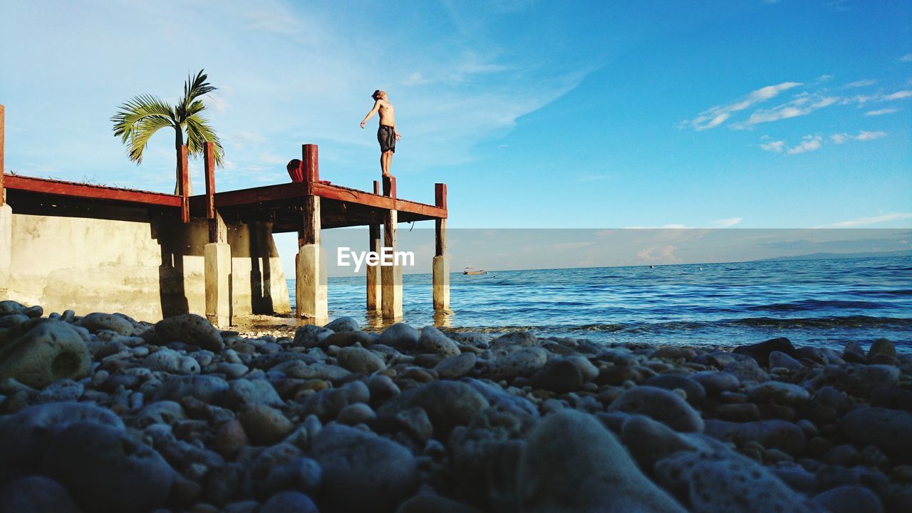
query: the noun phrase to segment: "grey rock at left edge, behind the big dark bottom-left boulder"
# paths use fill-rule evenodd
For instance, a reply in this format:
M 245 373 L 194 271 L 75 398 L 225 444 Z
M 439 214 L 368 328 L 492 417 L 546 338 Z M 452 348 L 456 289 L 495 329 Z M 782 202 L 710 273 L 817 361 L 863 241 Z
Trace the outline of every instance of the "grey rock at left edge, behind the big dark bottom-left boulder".
M 90 403 L 47 403 L 0 416 L 0 457 L 5 465 L 30 469 L 41 462 L 50 440 L 70 424 L 89 422 L 123 429 L 120 418 Z

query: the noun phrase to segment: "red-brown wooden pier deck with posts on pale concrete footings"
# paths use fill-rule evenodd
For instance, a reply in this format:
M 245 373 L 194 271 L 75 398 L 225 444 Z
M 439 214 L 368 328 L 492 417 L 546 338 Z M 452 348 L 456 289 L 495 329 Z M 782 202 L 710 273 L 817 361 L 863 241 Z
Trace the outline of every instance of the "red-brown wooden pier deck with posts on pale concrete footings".
M 212 143 L 204 153 L 205 193 L 189 195 L 187 151 L 179 154 L 180 194 L 73 183 L 20 175 L 4 175 L 3 115 L 0 106 L 0 290 L 4 272 L 9 272 L 12 211 L 16 214 L 63 215 L 112 218 L 111 208 L 131 207 L 150 216 L 167 217 L 189 224 L 205 219 L 205 314 L 220 326 L 232 322 L 232 246 L 226 240 L 226 224 L 266 223 L 273 233 L 297 233 L 296 315 L 323 322 L 326 309 L 326 251 L 320 232 L 343 226 L 368 226 L 365 249 L 382 253 L 384 247 L 397 251 L 399 223 L 433 220 L 436 225 L 436 253 L 433 259 L 433 302 L 437 310 L 449 309 L 449 262 L 446 256 L 447 188 L 434 186 L 434 204 L 399 198 L 396 179 L 374 182 L 373 191 L 360 191 L 322 181 L 316 144 L 301 150 L 301 182 L 216 192 Z M 5 189 L 5 194 L 4 194 Z M 53 205 L 53 208 L 51 208 Z M 12 211 L 11 211 L 12 207 Z M 109 208 L 111 207 L 111 208 Z M 113 215 L 116 217 L 116 215 Z M 382 226 L 382 229 L 381 229 Z M 381 242 L 382 233 L 382 242 Z M 5 244 L 4 244 L 5 243 Z M 385 262 L 384 264 L 392 264 Z M 368 266 L 366 308 L 379 310 L 385 321 L 402 316 L 402 269 L 397 265 Z M 74 298 L 78 301 L 78 298 Z

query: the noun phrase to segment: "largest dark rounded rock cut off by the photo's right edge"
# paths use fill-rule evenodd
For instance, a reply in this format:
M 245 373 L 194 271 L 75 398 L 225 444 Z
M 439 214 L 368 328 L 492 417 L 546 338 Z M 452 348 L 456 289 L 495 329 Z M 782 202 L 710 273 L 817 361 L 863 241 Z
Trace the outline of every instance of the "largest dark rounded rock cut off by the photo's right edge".
M 839 431 L 857 445 L 876 445 L 890 459 L 912 457 L 912 414 L 908 412 L 855 408 L 839 421 Z

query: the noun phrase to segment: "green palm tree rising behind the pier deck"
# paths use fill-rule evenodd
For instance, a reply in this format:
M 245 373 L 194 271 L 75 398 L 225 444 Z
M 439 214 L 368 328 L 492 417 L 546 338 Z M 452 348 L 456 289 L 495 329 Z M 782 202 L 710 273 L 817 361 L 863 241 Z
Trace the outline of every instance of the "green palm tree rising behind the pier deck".
M 183 97 L 173 107 L 158 97 L 140 95 L 122 104 L 119 111 L 111 121 L 114 122 L 114 135 L 127 145 L 130 160 L 140 164 L 142 152 L 149 144 L 149 139 L 156 131 L 165 127 L 174 129 L 174 148 L 177 151 L 177 184 L 174 194 L 178 194 L 181 184 L 181 146 L 184 141 L 184 131 L 187 131 L 187 155 L 202 155 L 204 143 L 213 142 L 215 145 L 215 165 L 221 166 L 224 158 L 224 149 L 219 136 L 209 126 L 209 120 L 202 117 L 202 110 L 206 109 L 200 97 L 215 90 L 209 82 L 203 69 L 195 78 L 187 77 L 183 84 Z M 190 191 L 187 191 L 190 194 Z

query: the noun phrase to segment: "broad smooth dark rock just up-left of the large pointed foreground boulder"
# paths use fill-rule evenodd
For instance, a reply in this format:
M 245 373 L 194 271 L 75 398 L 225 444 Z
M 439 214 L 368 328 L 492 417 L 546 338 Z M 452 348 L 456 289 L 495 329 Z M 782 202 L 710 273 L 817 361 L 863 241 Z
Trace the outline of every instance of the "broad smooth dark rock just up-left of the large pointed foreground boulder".
M 489 406 L 472 385 L 463 382 L 430 382 L 390 399 L 380 407 L 378 417 L 395 417 L 409 408 L 421 408 L 430 418 L 434 433 L 446 439 L 453 427 L 469 424 L 472 418 Z

